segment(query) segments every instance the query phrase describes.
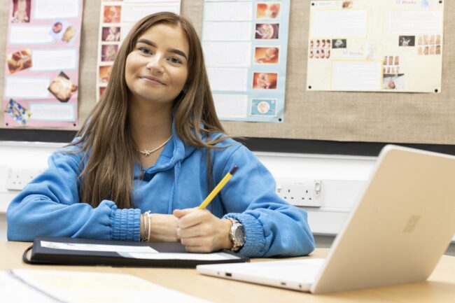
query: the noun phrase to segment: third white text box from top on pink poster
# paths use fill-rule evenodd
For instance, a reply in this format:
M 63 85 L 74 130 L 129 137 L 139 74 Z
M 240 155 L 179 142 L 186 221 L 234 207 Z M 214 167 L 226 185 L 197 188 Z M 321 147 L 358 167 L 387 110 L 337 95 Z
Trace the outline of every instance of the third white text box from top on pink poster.
M 34 50 L 31 52 L 31 71 L 63 71 L 76 69 L 76 49 Z

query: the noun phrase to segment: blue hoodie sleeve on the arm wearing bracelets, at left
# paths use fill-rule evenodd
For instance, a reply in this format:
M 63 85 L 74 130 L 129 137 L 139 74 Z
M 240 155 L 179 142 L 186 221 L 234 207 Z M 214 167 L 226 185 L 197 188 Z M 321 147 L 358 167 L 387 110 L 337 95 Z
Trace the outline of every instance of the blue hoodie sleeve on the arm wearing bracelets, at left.
M 48 169 L 10 202 L 8 240 L 49 236 L 139 241 L 139 209 L 117 209 L 108 200 L 96 208 L 79 202 L 80 161 L 80 154 L 50 156 Z

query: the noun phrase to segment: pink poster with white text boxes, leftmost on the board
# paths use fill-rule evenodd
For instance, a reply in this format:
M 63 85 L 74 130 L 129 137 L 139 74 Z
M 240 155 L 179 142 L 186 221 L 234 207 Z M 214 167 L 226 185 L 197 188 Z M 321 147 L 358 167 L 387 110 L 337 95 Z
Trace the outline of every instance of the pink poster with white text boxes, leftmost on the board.
M 6 127 L 76 127 L 83 0 L 10 0 Z

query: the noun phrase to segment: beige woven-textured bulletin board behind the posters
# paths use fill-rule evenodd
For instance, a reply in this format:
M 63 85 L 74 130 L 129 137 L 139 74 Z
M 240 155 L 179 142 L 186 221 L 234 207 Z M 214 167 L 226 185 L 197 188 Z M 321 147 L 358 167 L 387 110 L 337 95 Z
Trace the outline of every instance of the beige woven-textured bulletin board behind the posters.
M 381 0 L 370 0 L 381 1 Z M 9 3 L 9 1 L 6 1 Z M 79 73 L 79 120 L 96 99 L 101 0 L 84 1 Z M 290 0 L 286 106 L 282 123 L 227 122 L 235 136 L 274 139 L 455 144 L 455 1 L 445 1 L 442 87 L 438 93 L 311 92 L 306 90 L 310 0 Z M 181 14 L 200 33 L 203 0 L 183 0 Z M 8 5 L 0 6 L 0 69 L 5 68 Z M 4 79 L 0 73 L 0 94 Z M 18 129 L 20 127 L 16 127 Z M 0 115 L 0 134 L 6 126 Z

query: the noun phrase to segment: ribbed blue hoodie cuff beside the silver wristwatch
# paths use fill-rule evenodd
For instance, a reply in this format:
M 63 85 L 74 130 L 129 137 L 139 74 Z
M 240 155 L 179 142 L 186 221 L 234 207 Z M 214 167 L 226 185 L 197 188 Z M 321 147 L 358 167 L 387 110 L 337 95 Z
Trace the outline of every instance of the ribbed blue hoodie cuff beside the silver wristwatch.
M 223 218 L 234 218 L 244 225 L 246 239 L 238 253 L 246 257 L 261 257 L 265 246 L 264 229 L 259 220 L 247 213 L 228 213 Z

